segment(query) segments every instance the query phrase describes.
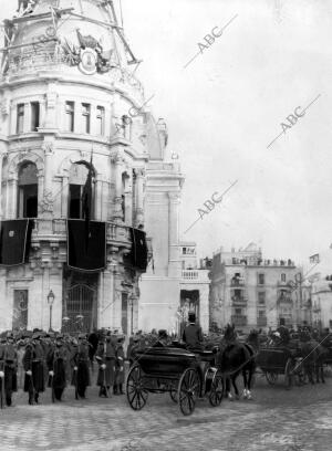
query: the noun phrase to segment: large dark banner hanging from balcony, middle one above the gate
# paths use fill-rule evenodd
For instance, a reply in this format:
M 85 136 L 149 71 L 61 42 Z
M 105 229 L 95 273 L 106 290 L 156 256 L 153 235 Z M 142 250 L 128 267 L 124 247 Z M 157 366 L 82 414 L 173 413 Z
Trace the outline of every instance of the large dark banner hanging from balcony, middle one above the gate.
M 86 224 L 81 219 L 69 219 L 68 265 L 81 271 L 102 271 L 106 266 L 106 224 L 90 221 L 89 235 Z

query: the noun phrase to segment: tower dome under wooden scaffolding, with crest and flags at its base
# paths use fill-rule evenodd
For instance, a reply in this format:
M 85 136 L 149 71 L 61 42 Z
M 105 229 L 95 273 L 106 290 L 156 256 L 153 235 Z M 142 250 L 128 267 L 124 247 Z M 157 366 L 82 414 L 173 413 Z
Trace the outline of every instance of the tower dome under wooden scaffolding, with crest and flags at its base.
M 86 75 L 108 74 L 137 63 L 111 0 L 34 0 L 6 29 L 3 73 L 64 64 Z

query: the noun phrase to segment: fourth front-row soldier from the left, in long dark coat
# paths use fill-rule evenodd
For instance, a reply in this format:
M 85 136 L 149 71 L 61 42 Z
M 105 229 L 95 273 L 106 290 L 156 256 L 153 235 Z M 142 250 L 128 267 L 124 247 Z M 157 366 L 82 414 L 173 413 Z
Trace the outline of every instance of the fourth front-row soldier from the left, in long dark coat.
M 74 361 L 74 377 L 77 387 L 77 395 L 81 398 L 85 398 L 86 387 L 90 386 L 90 373 L 89 373 L 89 342 L 84 334 L 79 335 L 79 346 L 73 357 Z

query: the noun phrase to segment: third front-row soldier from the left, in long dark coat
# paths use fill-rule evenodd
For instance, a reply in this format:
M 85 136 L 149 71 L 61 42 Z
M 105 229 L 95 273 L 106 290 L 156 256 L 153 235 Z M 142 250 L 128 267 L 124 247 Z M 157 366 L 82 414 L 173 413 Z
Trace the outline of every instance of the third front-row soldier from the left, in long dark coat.
M 68 359 L 69 352 L 64 346 L 63 335 L 59 334 L 55 339 L 55 346 L 50 349 L 48 355 L 49 387 L 52 387 L 54 398 L 58 401 L 61 401 L 66 385 L 65 368 Z

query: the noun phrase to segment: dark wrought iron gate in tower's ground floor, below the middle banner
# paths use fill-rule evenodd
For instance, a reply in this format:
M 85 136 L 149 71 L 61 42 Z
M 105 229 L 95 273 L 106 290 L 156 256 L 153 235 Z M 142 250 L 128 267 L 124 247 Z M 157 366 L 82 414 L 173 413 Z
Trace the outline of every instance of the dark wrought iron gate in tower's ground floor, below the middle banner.
M 91 332 L 96 326 L 96 291 L 86 284 L 72 285 L 65 296 L 63 332 Z

